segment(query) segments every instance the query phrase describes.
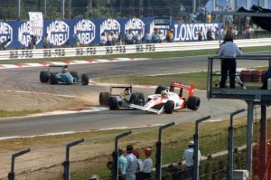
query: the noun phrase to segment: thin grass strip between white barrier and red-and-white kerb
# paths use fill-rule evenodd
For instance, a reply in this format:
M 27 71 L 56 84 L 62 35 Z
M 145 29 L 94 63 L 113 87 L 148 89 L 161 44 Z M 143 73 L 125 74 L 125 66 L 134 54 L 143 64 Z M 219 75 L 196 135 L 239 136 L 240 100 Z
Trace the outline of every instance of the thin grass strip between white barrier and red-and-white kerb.
M 270 51 L 271 46 L 262 47 L 244 47 L 243 52 L 262 52 Z M 89 60 L 89 59 L 107 59 L 107 58 L 171 58 L 171 57 L 185 57 L 185 56 L 198 56 L 198 55 L 212 55 L 216 54 L 218 49 L 214 50 L 192 50 L 192 51 L 179 51 L 179 52 L 143 52 L 143 53 L 128 53 L 128 54 L 113 54 L 113 55 L 94 55 L 94 56 L 77 56 L 77 57 L 65 57 L 65 58 L 47 58 L 47 59 L 29 59 L 29 60 L 6 60 L 1 61 L 0 64 L 10 63 L 25 63 L 25 62 L 61 62 L 67 60 Z

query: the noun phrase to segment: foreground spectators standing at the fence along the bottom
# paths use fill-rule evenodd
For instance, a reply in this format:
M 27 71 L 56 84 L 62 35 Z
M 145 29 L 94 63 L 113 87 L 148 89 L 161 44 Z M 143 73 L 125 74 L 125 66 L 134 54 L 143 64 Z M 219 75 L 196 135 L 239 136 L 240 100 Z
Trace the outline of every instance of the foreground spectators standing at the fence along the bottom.
M 114 156 L 115 152 L 113 153 Z M 144 158 L 141 154 L 144 154 Z M 198 162 L 200 166 L 201 152 L 198 152 Z M 184 177 L 191 179 L 194 168 L 194 141 L 189 141 L 188 148 L 183 152 L 181 159 L 185 166 Z M 113 162 L 109 161 L 107 167 L 111 170 L 111 175 L 114 174 Z M 118 180 L 151 180 L 152 170 L 154 167 L 152 159 L 152 148 L 145 147 L 141 152 L 135 149 L 133 145 L 126 146 L 126 152 L 119 148 L 117 152 L 117 173 Z

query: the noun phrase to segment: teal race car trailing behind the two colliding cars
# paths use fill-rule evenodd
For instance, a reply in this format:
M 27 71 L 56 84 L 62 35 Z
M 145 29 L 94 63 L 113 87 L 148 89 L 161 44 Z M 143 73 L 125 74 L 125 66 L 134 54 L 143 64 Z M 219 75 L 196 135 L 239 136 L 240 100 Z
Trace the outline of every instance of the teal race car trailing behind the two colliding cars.
M 51 68 L 61 68 L 61 71 L 51 71 Z M 49 65 L 48 71 L 40 72 L 40 81 L 42 83 L 55 84 L 81 84 L 89 85 L 89 76 L 83 73 L 79 78 L 77 71 L 68 71 L 68 65 Z

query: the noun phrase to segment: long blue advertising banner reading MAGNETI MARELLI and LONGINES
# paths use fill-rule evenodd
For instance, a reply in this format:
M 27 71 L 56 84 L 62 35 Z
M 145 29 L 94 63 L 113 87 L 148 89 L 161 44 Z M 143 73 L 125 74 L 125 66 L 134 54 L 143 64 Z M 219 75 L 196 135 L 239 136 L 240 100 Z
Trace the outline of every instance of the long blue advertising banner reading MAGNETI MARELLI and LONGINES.
M 201 27 L 203 33 L 208 28 L 221 26 L 221 24 L 174 24 L 173 18 L 169 25 L 157 25 L 153 17 L 147 18 L 119 18 L 119 19 L 79 19 L 79 20 L 56 20 L 43 21 L 42 36 L 37 36 L 37 47 L 42 47 L 44 35 L 48 33 L 50 46 L 75 45 L 74 33 L 79 30 L 81 43 L 84 45 L 98 44 L 100 34 L 103 32 L 116 32 L 124 35 L 126 30 L 132 29 L 133 33 L 138 30 L 145 32 L 154 31 L 154 27 L 162 32 L 162 39 L 165 38 L 166 30 L 173 29 L 176 42 L 196 41 L 197 32 Z M 11 39 L 7 48 L 27 48 L 31 41 L 32 24 L 29 21 L 0 22 L 0 42 Z

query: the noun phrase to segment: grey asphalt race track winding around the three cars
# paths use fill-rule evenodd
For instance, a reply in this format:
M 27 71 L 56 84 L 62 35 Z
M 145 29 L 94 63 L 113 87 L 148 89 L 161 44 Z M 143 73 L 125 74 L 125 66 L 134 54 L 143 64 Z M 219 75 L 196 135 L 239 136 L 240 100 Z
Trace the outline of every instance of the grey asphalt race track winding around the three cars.
M 270 52 L 266 52 L 270 54 Z M 262 54 L 262 53 L 261 53 Z M 256 67 L 266 65 L 266 62 L 238 62 L 238 67 Z M 72 70 L 87 72 L 91 79 L 111 76 L 144 76 L 157 74 L 172 74 L 191 71 L 207 71 L 207 56 L 169 58 L 137 62 L 108 62 L 84 65 L 72 65 Z M 220 68 L 220 64 L 216 64 Z M 39 81 L 43 68 L 22 68 L 1 70 L 0 82 L 5 84 L 1 90 L 26 90 L 49 92 L 89 98 L 98 105 L 98 94 L 107 91 L 105 86 L 63 86 L 42 84 Z M 153 94 L 154 89 L 135 88 L 145 94 Z M 193 122 L 205 116 L 212 120 L 229 118 L 229 113 L 247 108 L 246 102 L 237 99 L 206 99 L 206 91 L 196 90 L 196 96 L 201 98 L 201 108 L 197 111 L 182 109 L 172 115 L 156 115 L 134 109 L 101 110 L 97 112 L 44 116 L 32 118 L 6 118 L 0 120 L 0 137 L 34 136 L 47 133 L 69 131 L 85 131 L 101 128 L 131 128 L 166 124 L 170 122 Z M 31 102 L 30 102 L 31 103 Z M 246 116 L 246 112 L 241 116 Z M 214 122 L 215 123 L 215 122 Z

